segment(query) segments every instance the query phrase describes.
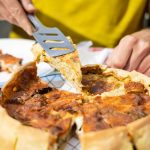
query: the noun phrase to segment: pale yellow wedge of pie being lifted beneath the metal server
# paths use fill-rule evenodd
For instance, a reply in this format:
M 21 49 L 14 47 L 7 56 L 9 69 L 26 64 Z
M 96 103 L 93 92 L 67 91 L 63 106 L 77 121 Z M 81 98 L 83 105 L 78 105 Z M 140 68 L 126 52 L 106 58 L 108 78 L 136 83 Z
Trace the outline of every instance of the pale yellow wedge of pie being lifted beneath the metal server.
M 72 43 L 71 39 L 69 41 Z M 50 66 L 56 68 L 60 73 L 73 84 L 78 92 L 81 91 L 81 63 L 78 55 L 78 51 L 75 47 L 75 51 L 66 55 L 51 57 L 45 50 L 36 43 L 32 47 L 32 52 L 36 61 L 47 62 Z M 59 50 L 59 49 L 58 49 Z

